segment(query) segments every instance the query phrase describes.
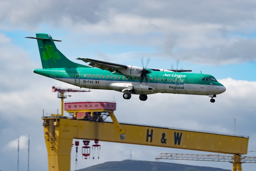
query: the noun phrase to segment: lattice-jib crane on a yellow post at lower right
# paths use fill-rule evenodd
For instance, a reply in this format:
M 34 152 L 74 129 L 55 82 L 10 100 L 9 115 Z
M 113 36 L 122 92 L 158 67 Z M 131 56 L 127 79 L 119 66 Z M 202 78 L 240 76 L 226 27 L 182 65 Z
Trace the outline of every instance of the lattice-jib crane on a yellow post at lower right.
M 233 156 L 223 155 L 201 155 L 201 154 L 173 154 L 161 153 L 156 160 L 173 159 L 173 160 L 199 160 L 199 161 L 223 161 L 233 164 L 232 171 L 242 171 L 242 163 L 256 163 L 256 157 L 246 157 L 236 154 Z

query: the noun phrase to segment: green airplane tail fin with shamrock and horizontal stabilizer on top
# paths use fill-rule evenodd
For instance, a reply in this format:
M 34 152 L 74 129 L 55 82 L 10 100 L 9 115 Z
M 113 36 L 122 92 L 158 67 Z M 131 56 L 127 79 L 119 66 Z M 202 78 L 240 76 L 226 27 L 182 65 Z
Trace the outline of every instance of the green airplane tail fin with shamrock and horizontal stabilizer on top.
M 55 46 L 53 39 L 50 35 L 38 33 L 35 37 L 26 37 L 37 39 L 40 58 L 43 68 L 77 68 L 87 67 L 75 62 L 70 61 L 64 56 Z M 58 40 L 54 40 L 58 41 Z

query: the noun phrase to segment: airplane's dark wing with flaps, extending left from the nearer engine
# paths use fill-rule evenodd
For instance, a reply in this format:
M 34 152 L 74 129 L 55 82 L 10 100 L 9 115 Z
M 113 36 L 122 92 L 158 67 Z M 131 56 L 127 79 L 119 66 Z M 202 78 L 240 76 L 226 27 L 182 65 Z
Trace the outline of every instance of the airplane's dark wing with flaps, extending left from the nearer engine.
M 90 62 L 90 66 L 93 68 L 100 68 L 102 70 L 108 70 L 110 72 L 115 72 L 117 69 L 127 69 L 128 66 L 126 65 L 120 65 L 116 63 L 111 63 L 111 62 L 105 62 L 105 61 L 99 61 L 95 59 L 89 59 L 89 58 L 77 58 L 78 60 L 84 61 L 84 62 Z

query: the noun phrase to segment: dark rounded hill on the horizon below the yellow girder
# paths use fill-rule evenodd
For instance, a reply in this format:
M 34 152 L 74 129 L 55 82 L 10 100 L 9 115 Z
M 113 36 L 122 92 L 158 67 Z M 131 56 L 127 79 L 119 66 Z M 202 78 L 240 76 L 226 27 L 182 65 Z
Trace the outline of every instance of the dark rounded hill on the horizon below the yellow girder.
M 123 160 L 110 161 L 78 171 L 229 171 L 216 167 L 192 166 L 159 161 Z

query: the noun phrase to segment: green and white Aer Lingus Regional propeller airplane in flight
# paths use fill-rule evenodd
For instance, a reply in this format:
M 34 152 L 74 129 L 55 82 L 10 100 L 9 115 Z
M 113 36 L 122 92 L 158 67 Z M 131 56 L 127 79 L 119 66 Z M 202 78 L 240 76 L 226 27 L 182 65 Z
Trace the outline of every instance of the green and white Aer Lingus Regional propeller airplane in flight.
M 34 73 L 81 88 L 119 91 L 123 93 L 124 99 L 130 99 L 131 94 L 138 94 L 141 101 L 146 101 L 149 94 L 171 93 L 208 95 L 211 97 L 210 102 L 215 102 L 213 98 L 226 91 L 226 87 L 209 74 L 77 58 L 89 63 L 86 66 L 66 58 L 54 44 L 54 41 L 61 40 L 54 40 L 48 34 L 38 33 L 36 37 L 25 38 L 37 40 L 43 69 L 34 69 Z

